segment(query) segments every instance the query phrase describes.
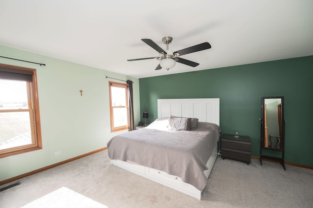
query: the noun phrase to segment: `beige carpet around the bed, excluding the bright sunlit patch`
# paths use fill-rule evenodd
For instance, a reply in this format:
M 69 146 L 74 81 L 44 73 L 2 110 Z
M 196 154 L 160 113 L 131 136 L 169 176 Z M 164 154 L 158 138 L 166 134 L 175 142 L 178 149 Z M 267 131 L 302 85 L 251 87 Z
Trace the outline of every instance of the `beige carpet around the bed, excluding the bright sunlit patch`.
M 109 208 L 312 208 L 313 169 L 286 169 L 218 157 L 197 200 L 110 165 L 104 150 L 20 179 L 21 185 L 0 192 L 0 208 L 21 208 L 62 187 Z

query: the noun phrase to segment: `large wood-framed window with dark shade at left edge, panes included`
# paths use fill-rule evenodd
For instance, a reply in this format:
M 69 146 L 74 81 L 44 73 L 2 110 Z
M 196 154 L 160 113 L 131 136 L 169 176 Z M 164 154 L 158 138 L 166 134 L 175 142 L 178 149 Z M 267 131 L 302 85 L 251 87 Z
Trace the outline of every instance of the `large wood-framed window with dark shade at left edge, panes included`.
M 36 69 L 0 64 L 0 158 L 41 148 Z

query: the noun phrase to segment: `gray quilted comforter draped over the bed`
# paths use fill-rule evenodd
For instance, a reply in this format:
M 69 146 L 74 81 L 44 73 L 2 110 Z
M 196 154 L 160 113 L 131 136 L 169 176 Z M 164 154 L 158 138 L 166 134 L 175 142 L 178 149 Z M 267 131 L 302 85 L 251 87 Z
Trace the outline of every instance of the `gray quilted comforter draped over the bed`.
M 207 183 L 203 171 L 219 141 L 218 125 L 199 122 L 196 130 L 163 131 L 143 128 L 113 137 L 108 142 L 111 159 L 165 171 L 183 182 L 203 190 Z

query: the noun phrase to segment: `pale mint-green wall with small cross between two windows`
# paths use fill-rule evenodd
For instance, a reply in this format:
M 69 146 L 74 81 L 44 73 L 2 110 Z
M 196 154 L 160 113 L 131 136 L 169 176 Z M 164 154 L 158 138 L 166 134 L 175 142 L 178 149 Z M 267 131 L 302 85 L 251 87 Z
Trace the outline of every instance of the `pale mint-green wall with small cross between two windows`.
M 1 45 L 0 52 L 1 56 L 46 64 L 0 58 L 0 63 L 37 69 L 43 143 L 43 149 L 0 158 L 0 181 L 106 147 L 121 133 L 111 133 L 109 103 L 109 81 L 120 81 L 106 76 L 134 82 L 135 124 L 140 120 L 136 78 Z M 56 151 L 61 155 L 55 156 Z

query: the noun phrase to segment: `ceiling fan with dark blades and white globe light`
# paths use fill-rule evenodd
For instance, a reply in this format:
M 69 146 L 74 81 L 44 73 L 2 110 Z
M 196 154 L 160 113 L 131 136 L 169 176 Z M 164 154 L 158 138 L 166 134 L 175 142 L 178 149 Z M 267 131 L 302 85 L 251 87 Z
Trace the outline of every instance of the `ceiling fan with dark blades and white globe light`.
M 169 70 L 173 68 L 176 64 L 176 62 L 183 63 L 192 67 L 196 67 L 199 65 L 199 63 L 192 62 L 186 59 L 182 59 L 179 56 L 194 53 L 197 51 L 205 50 L 211 48 L 210 43 L 203 42 L 198 45 L 194 45 L 185 49 L 181 49 L 179 51 L 171 51 L 168 49 L 168 44 L 171 43 L 173 40 L 172 37 L 166 36 L 162 38 L 162 42 L 166 44 L 166 51 L 164 51 L 160 46 L 158 46 L 154 41 L 151 39 L 141 39 L 141 41 L 147 43 L 149 46 L 154 48 L 157 52 L 159 52 L 158 57 L 149 57 L 149 58 L 142 58 L 142 59 L 129 59 L 127 61 L 138 61 L 138 60 L 145 60 L 145 59 L 156 59 L 160 61 L 160 63 L 156 66 L 156 70 L 159 70 L 161 68 L 164 68 L 166 70 Z

